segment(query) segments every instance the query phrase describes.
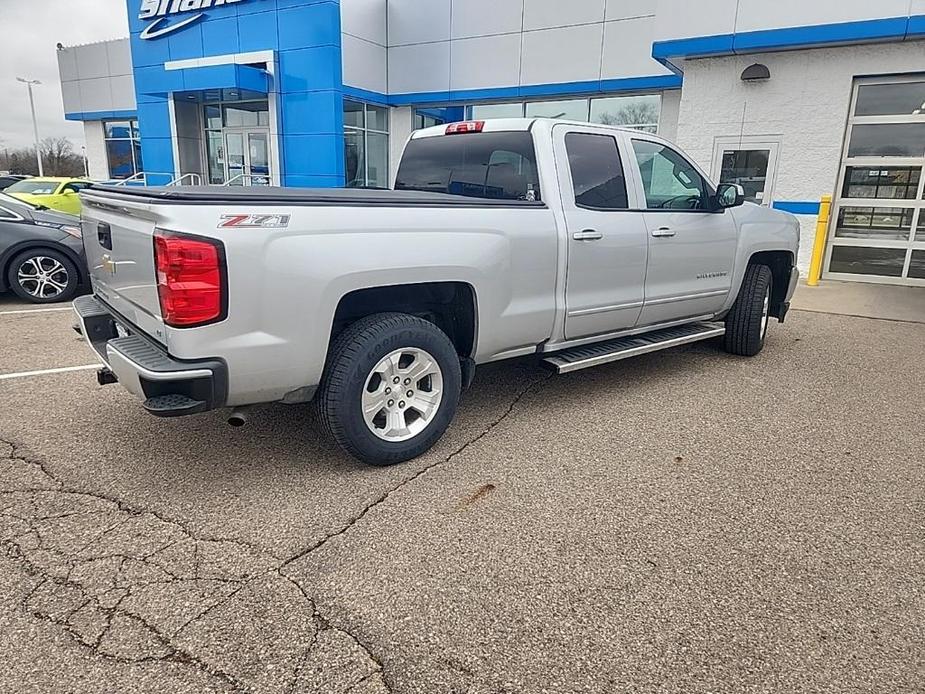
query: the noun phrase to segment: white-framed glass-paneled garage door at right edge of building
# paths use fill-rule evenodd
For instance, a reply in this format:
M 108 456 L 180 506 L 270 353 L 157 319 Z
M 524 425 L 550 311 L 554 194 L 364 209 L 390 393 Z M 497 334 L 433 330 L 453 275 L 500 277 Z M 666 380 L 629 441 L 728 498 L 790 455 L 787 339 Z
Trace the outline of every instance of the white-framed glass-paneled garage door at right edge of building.
M 825 276 L 925 285 L 925 76 L 859 80 Z

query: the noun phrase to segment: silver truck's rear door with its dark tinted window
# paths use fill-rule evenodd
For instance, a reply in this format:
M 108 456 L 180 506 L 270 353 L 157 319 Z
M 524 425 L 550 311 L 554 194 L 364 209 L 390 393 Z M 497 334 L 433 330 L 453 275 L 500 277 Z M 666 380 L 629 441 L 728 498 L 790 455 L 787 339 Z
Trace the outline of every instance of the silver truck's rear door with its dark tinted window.
M 553 129 L 568 230 L 565 336 L 636 325 L 642 311 L 647 237 L 630 209 L 622 137 L 593 126 Z

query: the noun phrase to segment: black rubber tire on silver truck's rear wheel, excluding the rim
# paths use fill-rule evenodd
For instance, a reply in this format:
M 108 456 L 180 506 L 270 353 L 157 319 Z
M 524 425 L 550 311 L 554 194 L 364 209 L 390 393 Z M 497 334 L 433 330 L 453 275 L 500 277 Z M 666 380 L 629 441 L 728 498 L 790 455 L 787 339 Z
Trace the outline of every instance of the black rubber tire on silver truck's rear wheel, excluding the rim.
M 388 441 L 367 425 L 362 398 L 373 369 L 400 349 L 424 350 L 436 361 L 443 395 L 422 431 L 404 441 Z M 421 455 L 443 436 L 456 415 L 461 385 L 459 355 L 442 330 L 404 313 L 378 313 L 348 326 L 335 340 L 318 406 L 325 427 L 347 453 L 369 465 L 394 465 Z

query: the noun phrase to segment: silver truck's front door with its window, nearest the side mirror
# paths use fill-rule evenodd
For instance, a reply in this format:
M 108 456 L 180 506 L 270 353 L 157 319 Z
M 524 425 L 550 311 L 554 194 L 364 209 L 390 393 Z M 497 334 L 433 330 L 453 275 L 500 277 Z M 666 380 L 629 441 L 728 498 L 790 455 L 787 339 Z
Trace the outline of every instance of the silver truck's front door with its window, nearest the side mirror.
M 718 313 L 732 287 L 732 213 L 710 211 L 712 188 L 681 154 L 644 137 L 633 137 L 632 145 L 649 233 L 640 325 Z

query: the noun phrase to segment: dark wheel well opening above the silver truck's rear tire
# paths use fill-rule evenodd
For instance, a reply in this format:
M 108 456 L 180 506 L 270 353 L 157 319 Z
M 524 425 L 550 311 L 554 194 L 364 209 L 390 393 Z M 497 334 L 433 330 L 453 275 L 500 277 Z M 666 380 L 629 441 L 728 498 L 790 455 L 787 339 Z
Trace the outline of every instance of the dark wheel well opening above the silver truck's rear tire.
M 340 298 L 328 347 L 352 323 L 374 313 L 407 313 L 430 321 L 449 336 L 462 359 L 478 343 L 478 297 L 468 282 L 415 282 L 364 287 Z

